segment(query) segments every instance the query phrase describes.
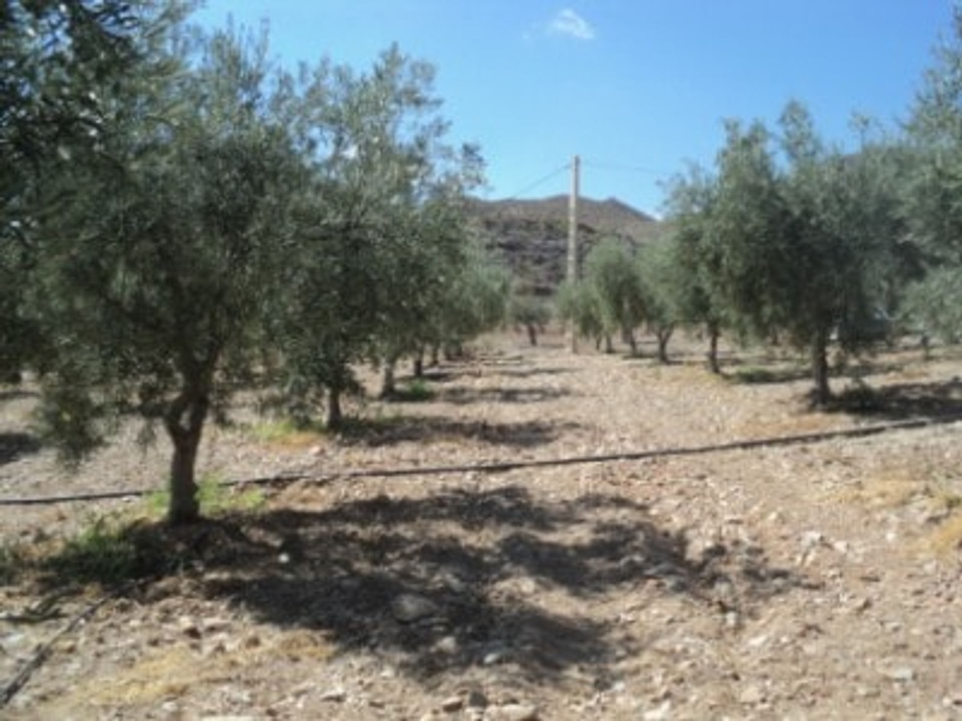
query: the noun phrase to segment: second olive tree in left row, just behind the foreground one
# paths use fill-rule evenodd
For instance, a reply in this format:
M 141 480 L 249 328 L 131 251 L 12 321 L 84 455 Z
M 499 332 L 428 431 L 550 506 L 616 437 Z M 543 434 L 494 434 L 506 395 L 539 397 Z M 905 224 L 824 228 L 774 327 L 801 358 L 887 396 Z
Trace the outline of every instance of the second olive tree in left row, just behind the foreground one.
M 294 404 L 307 414 L 304 399 L 326 391 L 331 427 L 342 394 L 359 387 L 354 364 L 384 363 L 391 391 L 394 363 L 430 335 L 461 262 L 452 178 L 467 185 L 478 163 L 472 149 L 450 158 L 443 146 L 433 74 L 393 47 L 367 73 L 322 63 L 301 93 L 295 127 L 313 147 L 314 173 L 273 334 Z

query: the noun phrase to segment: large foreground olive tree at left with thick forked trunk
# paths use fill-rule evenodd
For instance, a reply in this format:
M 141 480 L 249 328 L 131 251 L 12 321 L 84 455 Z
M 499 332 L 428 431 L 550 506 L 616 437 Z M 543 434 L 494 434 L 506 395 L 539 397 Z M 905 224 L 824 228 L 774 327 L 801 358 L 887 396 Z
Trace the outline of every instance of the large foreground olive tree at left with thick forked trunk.
M 45 188 L 57 211 L 38 228 L 29 305 L 56 338 L 43 377 L 52 434 L 80 454 L 120 413 L 163 424 L 168 517 L 181 523 L 198 516 L 205 422 L 255 359 L 300 175 L 269 112 L 263 40 L 215 33 L 154 52 L 176 72 L 129 68 L 103 161 L 69 163 Z

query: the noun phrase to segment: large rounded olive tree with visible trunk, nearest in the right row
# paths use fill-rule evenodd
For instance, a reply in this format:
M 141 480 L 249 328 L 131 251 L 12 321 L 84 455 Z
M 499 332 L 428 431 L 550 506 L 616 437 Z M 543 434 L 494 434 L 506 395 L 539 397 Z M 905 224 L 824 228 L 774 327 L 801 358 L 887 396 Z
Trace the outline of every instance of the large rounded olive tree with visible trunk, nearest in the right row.
M 864 142 L 854 154 L 825 148 L 797 103 L 781 128 L 784 170 L 763 126 L 728 124 L 710 237 L 725 310 L 759 336 L 782 331 L 807 348 L 823 405 L 832 333 L 847 351 L 873 340 L 867 330 L 901 236 L 896 187 L 880 172 L 884 154 Z

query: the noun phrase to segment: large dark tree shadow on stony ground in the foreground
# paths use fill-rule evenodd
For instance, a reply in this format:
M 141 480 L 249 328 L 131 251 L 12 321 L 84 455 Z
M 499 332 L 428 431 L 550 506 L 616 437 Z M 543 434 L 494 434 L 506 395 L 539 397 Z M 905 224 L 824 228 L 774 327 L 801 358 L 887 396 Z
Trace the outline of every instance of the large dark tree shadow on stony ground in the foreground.
M 190 548 L 206 597 L 261 623 L 323 632 L 424 682 L 493 658 L 535 684 L 561 683 L 575 667 L 610 677 L 616 659 L 643 643 L 616 619 L 592 615 L 611 593 L 643 606 L 683 597 L 722 624 L 727 611 L 752 614 L 812 587 L 758 547 L 696 553 L 684 533 L 622 497 L 545 501 L 520 486 L 382 495 L 188 530 L 153 526 L 137 537 L 150 537 L 157 554 Z

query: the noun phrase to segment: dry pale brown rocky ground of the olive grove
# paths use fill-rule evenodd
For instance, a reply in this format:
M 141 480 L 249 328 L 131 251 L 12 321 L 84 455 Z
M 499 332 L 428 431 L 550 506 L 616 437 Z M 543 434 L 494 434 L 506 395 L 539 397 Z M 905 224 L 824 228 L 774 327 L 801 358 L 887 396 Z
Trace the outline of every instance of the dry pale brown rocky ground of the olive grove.
M 435 370 L 430 399 L 357 407 L 367 420 L 341 437 L 266 434 L 238 408 L 237 426 L 207 436 L 205 472 L 328 478 L 185 532 L 141 522 L 180 567 L 64 635 L 0 716 L 962 718 L 958 355 L 882 353 L 833 379 L 873 391 L 813 412 L 791 361 L 731 356 L 723 380 L 695 346 L 662 367 L 572 357 L 553 340 L 490 341 Z M 64 471 L 30 434 L 35 403 L 0 390 L 3 497 L 163 478 L 163 439 L 141 451 L 133 424 Z M 703 455 L 330 478 L 909 417 L 935 422 Z M 0 530 L 29 553 L 94 514 L 143 508 L 0 507 Z M 17 619 L 0 621 L 0 680 L 104 593 L 51 596 L 36 573 L 7 581 L 0 604 Z M 43 598 L 60 615 L 24 622 Z

